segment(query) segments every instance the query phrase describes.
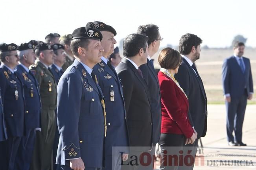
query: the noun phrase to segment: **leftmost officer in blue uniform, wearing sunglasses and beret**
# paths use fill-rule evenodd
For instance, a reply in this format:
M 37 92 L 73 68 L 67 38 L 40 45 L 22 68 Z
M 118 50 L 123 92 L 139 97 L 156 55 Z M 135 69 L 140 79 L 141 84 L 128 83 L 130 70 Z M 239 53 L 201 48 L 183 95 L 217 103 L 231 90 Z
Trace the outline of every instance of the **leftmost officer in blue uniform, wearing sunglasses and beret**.
M 7 128 L 6 141 L 0 142 L 0 169 L 14 170 L 15 159 L 22 136 L 24 136 L 25 101 L 22 81 L 13 69 L 18 65 L 17 45 L 2 44 L 0 47 L 0 88 L 4 106 L 4 118 Z

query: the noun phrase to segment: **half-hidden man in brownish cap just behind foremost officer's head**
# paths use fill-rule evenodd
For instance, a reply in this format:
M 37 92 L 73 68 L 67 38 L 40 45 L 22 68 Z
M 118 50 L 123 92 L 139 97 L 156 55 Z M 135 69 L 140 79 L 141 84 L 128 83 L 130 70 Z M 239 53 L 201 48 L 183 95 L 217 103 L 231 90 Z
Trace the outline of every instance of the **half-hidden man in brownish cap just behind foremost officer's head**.
M 65 71 L 75 60 L 71 48 L 70 43 L 72 40 L 71 34 L 65 34 L 59 38 L 59 43 L 63 45 L 64 50 L 66 52 L 66 62 L 63 64 L 62 69 Z

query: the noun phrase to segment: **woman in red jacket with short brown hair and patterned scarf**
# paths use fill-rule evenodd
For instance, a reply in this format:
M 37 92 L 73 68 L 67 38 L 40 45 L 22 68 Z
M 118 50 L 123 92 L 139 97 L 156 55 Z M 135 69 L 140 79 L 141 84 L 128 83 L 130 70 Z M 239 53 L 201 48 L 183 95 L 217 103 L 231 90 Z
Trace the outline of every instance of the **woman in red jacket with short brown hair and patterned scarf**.
M 183 146 L 193 143 L 196 139 L 196 134 L 188 120 L 188 98 L 174 78 L 181 61 L 180 53 L 171 48 L 163 49 L 158 55 L 158 62 L 161 66 L 158 72 L 158 80 L 162 110 L 161 136 L 158 143 L 161 153 L 177 155 L 178 158 L 180 156 L 179 151 L 183 150 Z M 164 152 L 165 150 L 167 153 Z M 160 169 L 177 170 L 179 160 L 172 160 L 173 162 L 170 163 L 168 159 L 163 159 Z

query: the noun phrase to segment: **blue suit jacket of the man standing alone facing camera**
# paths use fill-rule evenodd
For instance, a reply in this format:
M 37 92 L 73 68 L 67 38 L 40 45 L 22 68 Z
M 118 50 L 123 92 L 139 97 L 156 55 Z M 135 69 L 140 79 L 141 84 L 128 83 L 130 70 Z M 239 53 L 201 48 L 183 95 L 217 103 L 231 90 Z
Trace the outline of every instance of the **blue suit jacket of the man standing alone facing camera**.
M 224 94 L 229 93 L 232 98 L 241 97 L 245 92 L 245 87 L 247 94 L 253 92 L 250 60 L 243 57 L 243 62 L 245 63 L 245 73 L 242 72 L 234 56 L 227 58 L 223 63 L 222 82 Z

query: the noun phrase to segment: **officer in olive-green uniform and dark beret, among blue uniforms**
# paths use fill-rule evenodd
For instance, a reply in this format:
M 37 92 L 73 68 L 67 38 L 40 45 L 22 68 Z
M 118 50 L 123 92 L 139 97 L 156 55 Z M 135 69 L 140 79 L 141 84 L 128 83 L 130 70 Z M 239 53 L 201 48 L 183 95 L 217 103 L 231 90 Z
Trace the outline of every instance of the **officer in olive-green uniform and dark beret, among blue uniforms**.
M 41 132 L 37 132 L 31 170 L 52 170 L 52 148 L 55 136 L 57 87 L 49 66 L 53 63 L 51 44 L 41 43 L 35 47 L 39 61 L 30 67 L 39 83 L 42 101 Z

